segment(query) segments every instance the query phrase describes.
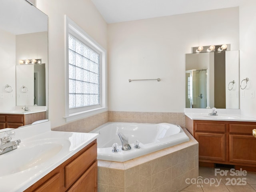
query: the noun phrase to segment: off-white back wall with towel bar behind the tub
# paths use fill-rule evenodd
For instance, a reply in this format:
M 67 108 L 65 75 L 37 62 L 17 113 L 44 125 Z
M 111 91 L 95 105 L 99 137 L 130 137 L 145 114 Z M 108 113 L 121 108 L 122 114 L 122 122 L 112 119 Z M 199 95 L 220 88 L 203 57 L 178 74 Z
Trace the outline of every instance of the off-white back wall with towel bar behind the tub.
M 185 54 L 223 43 L 239 49 L 237 7 L 110 24 L 109 110 L 184 112 Z

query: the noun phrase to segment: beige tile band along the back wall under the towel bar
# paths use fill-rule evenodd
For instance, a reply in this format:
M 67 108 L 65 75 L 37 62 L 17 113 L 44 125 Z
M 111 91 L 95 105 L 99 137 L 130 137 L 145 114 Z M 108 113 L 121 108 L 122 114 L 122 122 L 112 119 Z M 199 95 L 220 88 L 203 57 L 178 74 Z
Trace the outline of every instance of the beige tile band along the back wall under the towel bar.
M 109 122 L 171 123 L 185 128 L 185 114 L 176 112 L 108 111 Z

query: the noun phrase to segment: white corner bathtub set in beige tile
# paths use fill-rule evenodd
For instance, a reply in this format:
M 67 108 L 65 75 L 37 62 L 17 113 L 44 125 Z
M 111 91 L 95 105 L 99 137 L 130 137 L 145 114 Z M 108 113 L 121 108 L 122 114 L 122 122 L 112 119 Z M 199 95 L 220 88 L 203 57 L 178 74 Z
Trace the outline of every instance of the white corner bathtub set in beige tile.
M 123 151 L 118 132 L 129 138 L 131 150 Z M 188 136 L 180 126 L 169 123 L 141 124 L 141 123 L 111 123 L 108 122 L 91 133 L 99 133 L 98 159 L 125 162 L 170 146 L 189 141 Z M 140 148 L 134 148 L 134 141 L 140 141 Z M 112 145 L 118 143 L 119 152 L 112 152 Z

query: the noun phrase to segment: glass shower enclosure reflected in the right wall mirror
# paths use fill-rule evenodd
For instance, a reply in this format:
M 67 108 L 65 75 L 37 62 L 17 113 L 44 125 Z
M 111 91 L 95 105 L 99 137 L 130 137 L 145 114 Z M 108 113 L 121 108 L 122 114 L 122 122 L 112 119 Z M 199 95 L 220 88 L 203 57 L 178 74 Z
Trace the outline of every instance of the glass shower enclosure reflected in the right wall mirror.
M 186 71 L 186 108 L 206 108 L 207 70 Z

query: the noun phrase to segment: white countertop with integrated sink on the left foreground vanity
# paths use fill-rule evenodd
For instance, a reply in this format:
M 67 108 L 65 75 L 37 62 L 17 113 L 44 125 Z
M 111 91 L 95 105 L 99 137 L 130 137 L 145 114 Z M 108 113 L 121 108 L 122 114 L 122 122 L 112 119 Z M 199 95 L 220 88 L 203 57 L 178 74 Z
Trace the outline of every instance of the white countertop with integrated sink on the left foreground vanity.
M 13 131 L 16 135 L 12 140 L 21 142 L 17 149 L 0 155 L 0 191 L 24 191 L 98 137 L 52 131 L 50 122 Z

